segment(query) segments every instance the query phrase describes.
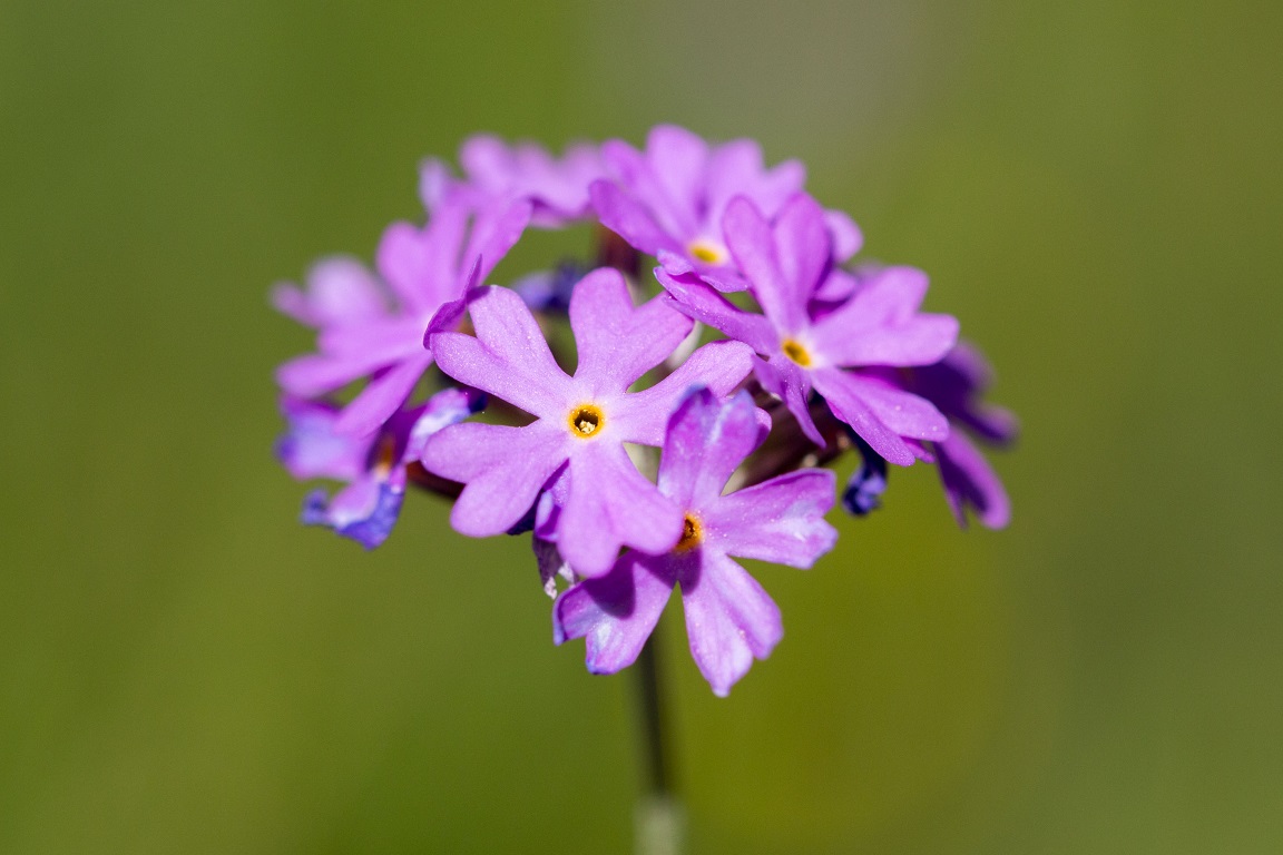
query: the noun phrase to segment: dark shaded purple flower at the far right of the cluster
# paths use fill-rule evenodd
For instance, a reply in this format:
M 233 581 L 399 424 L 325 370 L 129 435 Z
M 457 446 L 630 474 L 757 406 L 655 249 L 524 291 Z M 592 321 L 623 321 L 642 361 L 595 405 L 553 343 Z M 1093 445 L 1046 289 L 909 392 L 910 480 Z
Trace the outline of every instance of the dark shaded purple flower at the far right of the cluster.
M 944 359 L 906 372 L 906 386 L 928 399 L 949 419 L 949 435 L 935 442 L 935 461 L 944 483 L 944 497 L 958 526 L 966 528 L 967 506 L 987 528 L 1005 528 L 1011 522 L 1011 502 L 1002 481 L 980 450 L 967 438 L 1002 447 L 1017 432 L 1016 417 L 1008 410 L 984 404 L 980 396 L 993 382 L 989 363 L 979 350 L 958 342 Z

